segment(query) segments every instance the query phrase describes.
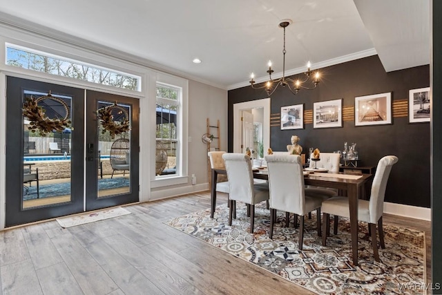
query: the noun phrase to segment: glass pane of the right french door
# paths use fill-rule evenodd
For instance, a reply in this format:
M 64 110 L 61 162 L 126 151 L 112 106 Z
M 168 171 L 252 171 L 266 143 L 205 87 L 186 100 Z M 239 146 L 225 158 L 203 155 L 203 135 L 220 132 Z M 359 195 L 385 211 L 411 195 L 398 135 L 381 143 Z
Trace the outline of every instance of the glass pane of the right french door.
M 131 106 L 97 102 L 98 198 L 131 192 Z

